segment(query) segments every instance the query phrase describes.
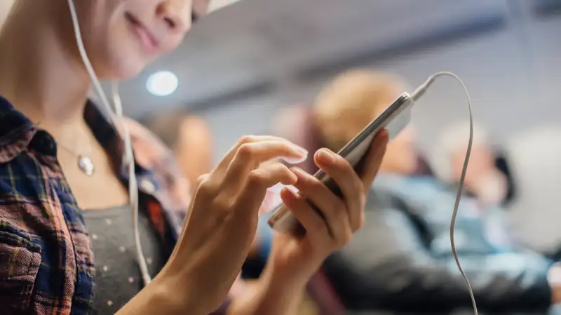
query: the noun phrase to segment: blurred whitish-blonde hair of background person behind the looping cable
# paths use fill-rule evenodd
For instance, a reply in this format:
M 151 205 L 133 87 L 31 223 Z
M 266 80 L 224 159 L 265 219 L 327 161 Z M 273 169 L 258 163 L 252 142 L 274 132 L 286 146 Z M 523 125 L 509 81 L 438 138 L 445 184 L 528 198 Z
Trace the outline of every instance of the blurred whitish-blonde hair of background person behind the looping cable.
M 431 150 L 431 168 L 441 180 L 452 180 L 452 155 L 465 151 L 469 140 L 469 121 L 451 123 L 440 131 L 435 146 Z M 473 145 L 491 145 L 485 128 L 473 123 Z

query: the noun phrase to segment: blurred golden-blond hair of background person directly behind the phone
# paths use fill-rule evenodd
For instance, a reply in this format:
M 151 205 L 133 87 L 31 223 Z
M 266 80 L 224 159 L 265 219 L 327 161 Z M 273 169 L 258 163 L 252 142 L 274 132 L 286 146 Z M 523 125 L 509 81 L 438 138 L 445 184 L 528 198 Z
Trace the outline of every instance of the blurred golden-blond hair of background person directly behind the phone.
M 392 74 L 353 69 L 320 92 L 313 116 L 326 147 L 338 151 L 396 98 L 405 83 Z

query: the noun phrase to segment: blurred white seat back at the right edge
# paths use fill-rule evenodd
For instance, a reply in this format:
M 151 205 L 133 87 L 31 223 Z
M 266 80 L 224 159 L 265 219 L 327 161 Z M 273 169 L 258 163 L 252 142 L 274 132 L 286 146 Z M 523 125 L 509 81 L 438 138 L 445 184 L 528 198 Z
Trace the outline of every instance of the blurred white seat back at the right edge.
M 517 196 L 508 213 L 519 241 L 553 254 L 561 244 L 561 126 L 540 126 L 506 144 Z

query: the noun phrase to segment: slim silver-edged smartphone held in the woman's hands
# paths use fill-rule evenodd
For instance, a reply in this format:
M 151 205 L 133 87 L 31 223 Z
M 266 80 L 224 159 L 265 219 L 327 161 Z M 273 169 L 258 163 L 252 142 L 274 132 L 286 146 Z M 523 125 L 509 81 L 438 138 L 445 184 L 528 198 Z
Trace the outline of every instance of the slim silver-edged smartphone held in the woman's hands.
M 408 93 L 401 94 L 391 105 L 384 109 L 384 112 L 369 123 L 368 126 L 358 133 L 353 140 L 347 143 L 343 149 L 339 150 L 337 154 L 349 161 L 355 171 L 360 174 L 363 168 L 363 163 L 361 162 L 363 162 L 368 153 L 374 136 L 379 130 L 386 128 L 390 140 L 396 137 L 396 135 L 410 123 L 410 109 L 413 103 L 414 101 Z M 322 170 L 318 170 L 314 176 L 321 180 L 334 194 L 342 196 L 339 187 L 337 187 L 335 182 Z M 309 202 L 309 204 L 323 217 L 323 213 L 321 213 L 313 203 Z M 280 205 L 273 209 L 271 217 L 269 218 L 269 225 L 278 232 L 305 233 L 304 227 L 302 227 L 297 218 L 290 213 L 290 210 L 288 210 L 284 203 L 280 203 Z

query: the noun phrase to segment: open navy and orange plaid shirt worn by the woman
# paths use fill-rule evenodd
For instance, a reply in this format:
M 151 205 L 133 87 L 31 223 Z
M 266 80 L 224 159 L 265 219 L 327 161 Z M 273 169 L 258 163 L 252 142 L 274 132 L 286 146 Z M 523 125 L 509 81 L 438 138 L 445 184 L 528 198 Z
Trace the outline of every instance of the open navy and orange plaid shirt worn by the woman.
M 84 115 L 128 185 L 116 128 L 91 102 Z M 189 184 L 154 135 L 126 122 L 140 208 L 171 250 L 189 205 Z M 94 270 L 88 232 L 58 164 L 55 140 L 0 98 L 0 313 L 87 314 Z

